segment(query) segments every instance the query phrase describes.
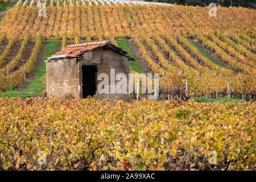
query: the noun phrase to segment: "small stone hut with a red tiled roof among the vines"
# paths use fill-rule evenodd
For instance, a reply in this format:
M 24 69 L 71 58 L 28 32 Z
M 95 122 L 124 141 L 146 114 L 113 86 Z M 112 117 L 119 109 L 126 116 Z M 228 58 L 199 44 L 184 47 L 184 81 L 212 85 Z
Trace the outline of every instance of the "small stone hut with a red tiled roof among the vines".
M 134 59 L 109 40 L 69 45 L 46 60 L 47 95 L 64 97 L 65 94 L 72 94 L 76 100 L 88 96 L 97 100 L 130 100 L 128 93 L 97 92 L 100 73 L 108 75 L 109 83 L 112 76 L 110 69 L 111 72 L 114 69 L 115 75 L 125 73 L 129 78 L 129 60 Z M 115 84 L 117 82 L 114 81 Z M 110 87 L 108 85 L 106 89 L 110 90 Z

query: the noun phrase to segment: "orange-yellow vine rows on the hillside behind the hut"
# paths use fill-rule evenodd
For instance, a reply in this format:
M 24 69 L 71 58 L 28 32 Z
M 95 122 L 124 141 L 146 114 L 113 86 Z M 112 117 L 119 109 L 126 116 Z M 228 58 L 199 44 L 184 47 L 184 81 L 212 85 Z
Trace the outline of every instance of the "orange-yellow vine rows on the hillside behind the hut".
M 42 17 L 32 1 L 21 1 L 6 12 L 0 23 L 1 42 L 8 42 L 0 57 L 2 91 L 10 85 L 15 88 L 31 72 L 42 40 L 62 40 L 64 48 L 67 40 L 110 39 L 116 45 L 115 39 L 126 38 L 137 46 L 151 72 L 164 76 L 162 97 L 255 98 L 255 10 L 218 7 L 218 16 L 212 18 L 207 16 L 209 8 L 192 6 L 64 2 L 45 1 L 46 16 Z M 20 50 L 6 63 L 18 39 L 23 41 Z M 19 65 L 28 39 L 36 39 L 36 46 L 30 61 Z M 212 63 L 188 39 L 210 49 L 226 66 Z

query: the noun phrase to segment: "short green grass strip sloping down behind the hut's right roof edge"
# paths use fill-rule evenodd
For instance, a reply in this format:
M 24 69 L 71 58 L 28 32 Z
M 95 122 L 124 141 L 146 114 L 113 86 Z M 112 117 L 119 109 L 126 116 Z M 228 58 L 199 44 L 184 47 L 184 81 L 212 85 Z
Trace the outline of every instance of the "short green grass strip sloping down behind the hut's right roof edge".
M 122 47 L 124 51 L 127 52 L 127 55 L 134 57 L 135 61 L 129 61 L 131 69 L 133 71 L 138 73 L 144 73 L 141 64 L 139 64 L 139 61 L 136 59 L 133 50 L 131 50 L 131 47 L 126 39 L 117 39 L 117 44 L 119 47 Z

